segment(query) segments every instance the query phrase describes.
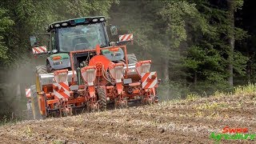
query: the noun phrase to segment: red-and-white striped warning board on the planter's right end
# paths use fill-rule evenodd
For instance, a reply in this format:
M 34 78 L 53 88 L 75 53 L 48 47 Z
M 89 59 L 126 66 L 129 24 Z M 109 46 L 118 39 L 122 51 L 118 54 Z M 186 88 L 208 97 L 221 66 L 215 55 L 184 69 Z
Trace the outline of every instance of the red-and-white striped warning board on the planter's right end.
M 151 89 L 158 84 L 157 73 L 142 73 L 142 89 Z

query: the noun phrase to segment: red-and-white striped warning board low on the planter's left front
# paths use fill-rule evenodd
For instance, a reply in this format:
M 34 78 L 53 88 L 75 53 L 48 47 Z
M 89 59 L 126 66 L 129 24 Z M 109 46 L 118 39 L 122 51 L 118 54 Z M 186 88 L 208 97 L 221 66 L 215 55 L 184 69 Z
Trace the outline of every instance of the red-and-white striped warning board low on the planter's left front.
M 54 95 L 58 98 L 69 98 L 70 87 L 68 82 L 53 83 Z

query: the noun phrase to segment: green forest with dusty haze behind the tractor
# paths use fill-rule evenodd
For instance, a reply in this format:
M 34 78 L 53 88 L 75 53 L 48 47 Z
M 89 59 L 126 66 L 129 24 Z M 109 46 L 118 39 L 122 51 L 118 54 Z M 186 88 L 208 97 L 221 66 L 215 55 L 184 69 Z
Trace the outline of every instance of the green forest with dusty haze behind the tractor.
M 210 95 L 255 82 L 253 6 L 249 0 L 1 1 L 0 119 L 26 109 L 24 89 L 34 83 L 39 63 L 31 54 L 30 36 L 69 18 L 105 15 L 119 34 L 134 34 L 129 52 L 152 60 L 162 78 L 162 99 Z

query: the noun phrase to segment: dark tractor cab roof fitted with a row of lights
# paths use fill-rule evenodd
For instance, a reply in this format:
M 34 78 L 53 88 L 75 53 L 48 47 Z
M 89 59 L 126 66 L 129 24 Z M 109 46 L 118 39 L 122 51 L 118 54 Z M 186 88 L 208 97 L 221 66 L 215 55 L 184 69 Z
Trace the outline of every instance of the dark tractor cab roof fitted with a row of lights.
M 48 27 L 48 32 L 55 28 L 67 27 L 67 26 L 76 26 L 82 24 L 90 24 L 90 23 L 98 23 L 98 22 L 106 22 L 106 18 L 104 16 L 96 16 L 96 17 L 84 17 L 84 18 L 74 18 L 66 21 L 54 22 L 51 23 Z

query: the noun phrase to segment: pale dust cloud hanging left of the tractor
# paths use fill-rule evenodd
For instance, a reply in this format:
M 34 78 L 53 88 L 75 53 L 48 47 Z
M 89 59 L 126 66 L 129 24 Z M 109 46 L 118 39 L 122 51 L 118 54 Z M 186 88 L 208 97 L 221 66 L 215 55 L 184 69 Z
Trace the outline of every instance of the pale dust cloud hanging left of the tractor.
M 35 66 L 44 65 L 42 56 L 30 56 L 19 60 L 16 66 L 1 70 L 0 84 L 0 121 L 3 119 L 23 118 L 26 110 L 25 89 L 35 83 Z

